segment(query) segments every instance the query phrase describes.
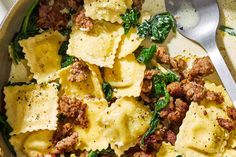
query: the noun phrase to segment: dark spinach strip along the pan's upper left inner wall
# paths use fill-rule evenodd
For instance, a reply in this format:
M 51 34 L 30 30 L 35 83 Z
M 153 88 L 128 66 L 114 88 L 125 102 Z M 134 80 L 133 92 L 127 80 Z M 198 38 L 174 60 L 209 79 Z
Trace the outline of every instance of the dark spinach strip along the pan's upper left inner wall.
M 32 6 L 27 11 L 27 14 L 24 18 L 22 28 L 19 33 L 16 33 L 15 37 L 10 44 L 12 48 L 12 57 L 15 63 L 18 63 L 21 59 L 24 59 L 24 53 L 22 52 L 22 47 L 19 44 L 19 40 L 26 39 L 30 36 L 38 34 L 39 27 L 36 24 L 37 13 L 35 11 L 39 0 L 35 0 Z

